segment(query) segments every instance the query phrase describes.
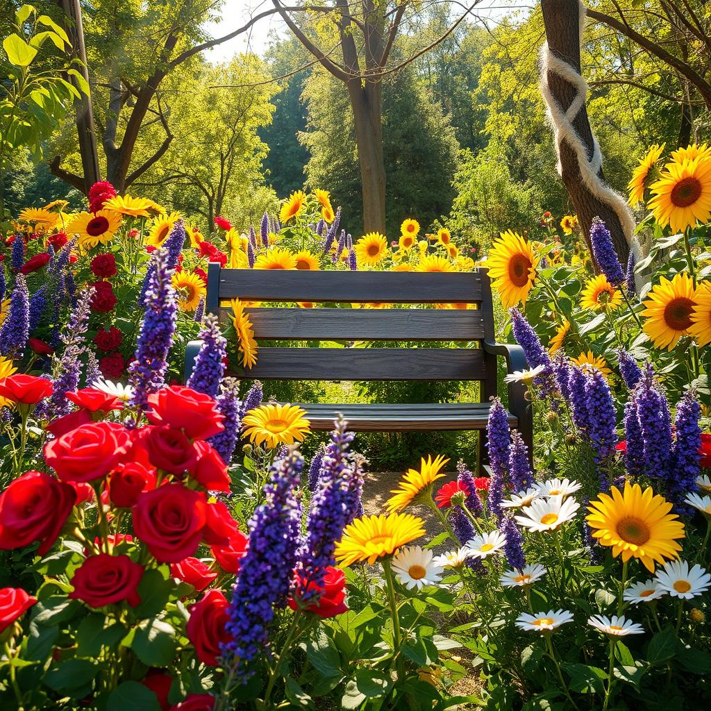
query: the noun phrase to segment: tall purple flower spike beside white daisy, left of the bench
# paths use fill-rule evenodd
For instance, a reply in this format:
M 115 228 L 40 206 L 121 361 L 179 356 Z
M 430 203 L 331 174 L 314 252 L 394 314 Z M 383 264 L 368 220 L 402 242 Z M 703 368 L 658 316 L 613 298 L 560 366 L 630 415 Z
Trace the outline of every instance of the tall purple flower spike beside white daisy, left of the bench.
M 170 238 L 169 238 L 170 239 Z M 143 408 L 151 392 L 160 390 L 168 371 L 168 352 L 176 329 L 175 289 L 171 286 L 173 270 L 167 266 L 168 253 L 156 250 L 153 274 L 146 289 L 145 309 L 139 333 L 136 360 L 129 365 L 129 383 L 134 387 L 131 405 Z

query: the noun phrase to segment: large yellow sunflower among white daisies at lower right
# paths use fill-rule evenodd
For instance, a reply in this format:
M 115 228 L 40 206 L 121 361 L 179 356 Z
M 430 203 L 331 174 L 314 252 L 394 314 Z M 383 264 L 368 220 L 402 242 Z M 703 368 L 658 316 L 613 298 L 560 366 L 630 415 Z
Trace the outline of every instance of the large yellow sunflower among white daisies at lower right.
M 655 563 L 679 557 L 677 540 L 685 537 L 684 524 L 676 520 L 675 513 L 669 513 L 671 508 L 672 504 L 655 496 L 651 488 L 642 491 L 639 484 L 627 481 L 623 493 L 613 486 L 612 496 L 601 493 L 590 502 L 587 523 L 600 545 L 612 547 L 614 557 L 621 555 L 624 562 L 638 558 L 654 572 Z

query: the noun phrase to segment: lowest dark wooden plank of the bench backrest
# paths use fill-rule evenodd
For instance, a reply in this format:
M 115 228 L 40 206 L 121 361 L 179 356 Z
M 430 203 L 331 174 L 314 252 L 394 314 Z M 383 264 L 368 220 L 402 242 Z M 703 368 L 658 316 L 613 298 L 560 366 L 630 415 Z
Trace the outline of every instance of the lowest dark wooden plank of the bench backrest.
M 260 348 L 245 378 L 264 380 L 483 380 L 478 348 Z

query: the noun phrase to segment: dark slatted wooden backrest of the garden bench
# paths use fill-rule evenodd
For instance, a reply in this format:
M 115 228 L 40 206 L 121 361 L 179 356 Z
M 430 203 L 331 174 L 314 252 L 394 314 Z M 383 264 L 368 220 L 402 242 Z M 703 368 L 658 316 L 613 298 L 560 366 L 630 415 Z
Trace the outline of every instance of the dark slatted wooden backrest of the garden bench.
M 205 310 L 227 299 L 267 302 L 476 304 L 476 309 L 247 309 L 257 340 L 493 341 L 486 269 L 474 272 L 326 272 L 223 269 L 210 263 Z M 496 357 L 481 348 L 262 347 L 245 378 L 260 380 L 483 380 L 496 392 Z M 482 393 L 484 394 L 484 392 Z

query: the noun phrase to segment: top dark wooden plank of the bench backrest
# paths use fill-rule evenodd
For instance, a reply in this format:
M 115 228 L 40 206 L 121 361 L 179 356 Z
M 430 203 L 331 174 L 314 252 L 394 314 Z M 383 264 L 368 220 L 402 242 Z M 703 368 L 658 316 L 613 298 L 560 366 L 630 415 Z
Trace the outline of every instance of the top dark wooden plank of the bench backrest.
M 356 301 L 396 304 L 477 303 L 474 272 L 309 272 L 299 269 L 220 269 L 220 299 Z

